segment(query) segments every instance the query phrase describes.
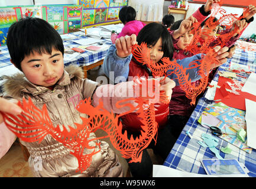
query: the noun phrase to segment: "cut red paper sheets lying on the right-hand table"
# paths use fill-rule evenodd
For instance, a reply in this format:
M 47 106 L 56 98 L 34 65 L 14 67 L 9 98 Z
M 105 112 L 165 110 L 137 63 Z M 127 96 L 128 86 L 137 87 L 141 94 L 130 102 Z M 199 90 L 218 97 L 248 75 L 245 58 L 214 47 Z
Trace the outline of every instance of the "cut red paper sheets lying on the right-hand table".
M 226 84 L 226 82 L 234 83 L 232 79 L 226 77 L 219 77 L 218 86 L 222 86 Z M 226 84 L 226 89 L 231 89 L 228 84 Z M 227 106 L 235 107 L 237 109 L 246 110 L 245 109 L 245 99 L 252 100 L 256 102 L 256 96 L 247 92 L 242 92 L 241 90 L 237 90 L 240 94 L 234 94 L 229 92 L 229 98 L 223 97 L 221 90 L 216 88 L 216 93 L 214 100 L 221 99 L 221 102 Z

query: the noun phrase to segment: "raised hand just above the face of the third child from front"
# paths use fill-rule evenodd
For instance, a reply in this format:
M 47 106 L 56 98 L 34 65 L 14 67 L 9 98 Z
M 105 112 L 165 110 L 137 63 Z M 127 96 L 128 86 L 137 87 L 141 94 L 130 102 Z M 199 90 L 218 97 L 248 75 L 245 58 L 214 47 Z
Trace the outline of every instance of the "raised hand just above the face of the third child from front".
M 190 16 L 187 19 L 184 19 L 182 23 L 180 24 L 180 27 L 178 30 L 175 30 L 173 32 L 173 38 L 176 40 L 186 32 L 192 29 L 193 23 L 197 22 L 197 19 L 193 16 Z

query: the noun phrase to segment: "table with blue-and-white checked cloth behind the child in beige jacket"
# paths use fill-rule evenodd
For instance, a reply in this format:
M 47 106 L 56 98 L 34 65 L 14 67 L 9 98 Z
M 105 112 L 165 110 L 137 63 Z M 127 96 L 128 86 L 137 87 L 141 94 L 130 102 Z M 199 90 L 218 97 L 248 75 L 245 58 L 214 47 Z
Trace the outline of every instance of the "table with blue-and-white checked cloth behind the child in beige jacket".
M 70 34 L 73 34 L 76 36 L 76 38 L 73 38 L 73 40 L 88 38 L 85 35 L 85 32 L 82 32 L 82 31 L 72 32 Z M 69 47 L 69 48 L 79 47 L 80 44 L 74 43 L 73 40 L 63 40 L 64 47 Z M 111 41 L 109 40 L 105 40 L 105 39 L 102 39 L 102 40 L 103 40 L 101 42 L 102 45 L 110 46 L 112 44 Z M 64 58 L 63 58 L 64 66 L 68 66 L 70 64 L 82 66 L 83 70 L 85 71 L 85 77 L 87 77 L 88 70 L 103 64 L 103 59 L 105 58 L 107 52 L 108 52 L 108 48 L 102 48 L 101 50 L 98 50 L 98 51 L 85 50 L 85 52 L 83 53 L 77 53 L 77 52 L 73 54 L 64 53 Z M 0 85 L 2 84 L 1 76 L 12 75 L 18 72 L 21 72 L 21 71 L 18 70 L 10 62 L 10 56 L 9 56 L 7 45 L 0 46 Z

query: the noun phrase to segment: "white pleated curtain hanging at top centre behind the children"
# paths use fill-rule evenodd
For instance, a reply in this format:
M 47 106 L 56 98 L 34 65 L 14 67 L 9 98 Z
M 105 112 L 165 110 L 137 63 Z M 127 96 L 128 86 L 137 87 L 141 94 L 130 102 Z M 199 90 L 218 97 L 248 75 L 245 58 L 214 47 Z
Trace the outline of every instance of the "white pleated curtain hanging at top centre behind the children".
M 136 10 L 137 20 L 162 21 L 164 0 L 129 0 L 128 6 L 132 6 Z

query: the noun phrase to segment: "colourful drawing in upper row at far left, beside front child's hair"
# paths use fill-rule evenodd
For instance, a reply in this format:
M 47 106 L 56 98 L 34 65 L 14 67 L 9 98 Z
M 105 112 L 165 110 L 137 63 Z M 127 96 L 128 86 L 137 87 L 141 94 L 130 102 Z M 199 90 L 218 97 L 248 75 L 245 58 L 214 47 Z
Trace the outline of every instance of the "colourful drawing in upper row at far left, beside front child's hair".
M 0 9 L 0 25 L 12 24 L 16 22 L 16 13 L 14 8 L 1 8 Z

